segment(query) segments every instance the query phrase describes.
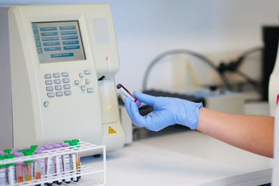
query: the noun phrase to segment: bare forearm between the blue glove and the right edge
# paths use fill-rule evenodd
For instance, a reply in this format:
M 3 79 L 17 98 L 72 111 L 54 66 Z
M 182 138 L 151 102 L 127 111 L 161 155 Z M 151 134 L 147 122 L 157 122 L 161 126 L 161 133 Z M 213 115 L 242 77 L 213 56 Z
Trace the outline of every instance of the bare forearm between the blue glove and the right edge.
M 227 114 L 200 108 L 196 129 L 232 146 L 273 157 L 273 123 L 271 116 Z

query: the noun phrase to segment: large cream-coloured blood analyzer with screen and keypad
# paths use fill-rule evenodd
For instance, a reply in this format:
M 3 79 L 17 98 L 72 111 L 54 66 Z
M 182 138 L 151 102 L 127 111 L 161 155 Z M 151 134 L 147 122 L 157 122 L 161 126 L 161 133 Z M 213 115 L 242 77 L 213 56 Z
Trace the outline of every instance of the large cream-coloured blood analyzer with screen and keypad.
M 12 6 L 8 24 L 14 146 L 80 138 L 121 148 L 110 6 Z

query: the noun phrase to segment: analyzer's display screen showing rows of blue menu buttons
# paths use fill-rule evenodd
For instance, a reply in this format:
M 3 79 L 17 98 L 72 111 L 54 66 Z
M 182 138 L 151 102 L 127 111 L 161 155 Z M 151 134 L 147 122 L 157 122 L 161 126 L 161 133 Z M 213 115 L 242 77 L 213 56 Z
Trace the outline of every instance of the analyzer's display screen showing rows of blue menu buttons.
M 40 63 L 86 59 L 78 21 L 33 22 Z

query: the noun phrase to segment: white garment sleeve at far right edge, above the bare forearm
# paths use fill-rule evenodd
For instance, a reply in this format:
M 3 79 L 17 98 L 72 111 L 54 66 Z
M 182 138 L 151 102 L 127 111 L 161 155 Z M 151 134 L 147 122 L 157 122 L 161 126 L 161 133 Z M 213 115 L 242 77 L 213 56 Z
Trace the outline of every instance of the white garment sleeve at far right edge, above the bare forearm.
M 279 46 L 279 45 L 278 45 Z M 277 49 L 276 62 L 269 77 L 269 108 L 271 116 L 275 116 L 279 102 L 279 47 Z

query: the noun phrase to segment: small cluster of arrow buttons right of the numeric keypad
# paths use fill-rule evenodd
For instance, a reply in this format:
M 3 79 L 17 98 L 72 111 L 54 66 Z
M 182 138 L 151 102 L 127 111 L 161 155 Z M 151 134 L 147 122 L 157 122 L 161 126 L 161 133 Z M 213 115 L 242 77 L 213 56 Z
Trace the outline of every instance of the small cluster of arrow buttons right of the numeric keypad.
M 83 72 L 79 72 L 77 79 L 74 81 L 74 85 L 80 88 L 82 93 L 93 93 L 93 87 L 90 84 L 89 75 L 91 75 L 90 70 L 84 70 Z M 66 89 L 66 88 L 65 88 Z

